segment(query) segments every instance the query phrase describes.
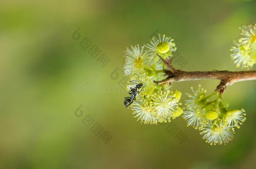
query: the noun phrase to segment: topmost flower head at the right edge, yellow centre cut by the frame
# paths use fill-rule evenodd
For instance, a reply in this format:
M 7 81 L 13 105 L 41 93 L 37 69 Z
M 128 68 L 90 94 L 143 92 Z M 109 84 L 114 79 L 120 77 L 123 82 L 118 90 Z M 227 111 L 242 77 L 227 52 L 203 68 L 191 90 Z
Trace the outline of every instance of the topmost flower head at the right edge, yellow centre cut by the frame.
M 243 43 L 256 43 L 256 24 L 242 26 L 240 29 Z

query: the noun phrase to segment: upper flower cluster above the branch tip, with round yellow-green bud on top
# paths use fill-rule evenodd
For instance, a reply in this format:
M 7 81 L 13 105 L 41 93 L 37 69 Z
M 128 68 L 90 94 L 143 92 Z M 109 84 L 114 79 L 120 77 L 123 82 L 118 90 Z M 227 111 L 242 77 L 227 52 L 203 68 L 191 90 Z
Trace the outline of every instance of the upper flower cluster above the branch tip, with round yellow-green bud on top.
M 173 39 L 165 35 L 154 36 L 150 44 L 131 46 L 125 51 L 124 73 L 126 76 L 149 76 L 153 80 L 162 80 L 166 78 L 165 65 L 160 61 L 157 54 L 163 58 L 172 56 L 176 47 Z

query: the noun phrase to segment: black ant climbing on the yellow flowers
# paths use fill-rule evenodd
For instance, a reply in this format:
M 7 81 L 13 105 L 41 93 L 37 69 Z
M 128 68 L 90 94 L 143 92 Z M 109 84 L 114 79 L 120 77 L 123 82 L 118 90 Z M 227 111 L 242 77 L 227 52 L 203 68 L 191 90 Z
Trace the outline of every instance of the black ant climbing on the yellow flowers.
M 129 94 L 131 94 L 130 97 L 125 97 L 125 100 L 123 101 L 123 105 L 128 108 L 128 106 L 133 103 L 133 100 L 136 100 L 136 96 L 138 95 L 138 93 L 140 93 L 142 91 L 142 89 L 146 86 L 143 86 L 143 83 L 136 83 L 136 81 L 130 81 L 131 83 L 135 83 L 136 86 L 135 88 L 130 88 L 131 90 L 129 91 Z M 143 86 L 143 87 L 142 87 Z M 140 89 L 141 90 L 138 90 Z

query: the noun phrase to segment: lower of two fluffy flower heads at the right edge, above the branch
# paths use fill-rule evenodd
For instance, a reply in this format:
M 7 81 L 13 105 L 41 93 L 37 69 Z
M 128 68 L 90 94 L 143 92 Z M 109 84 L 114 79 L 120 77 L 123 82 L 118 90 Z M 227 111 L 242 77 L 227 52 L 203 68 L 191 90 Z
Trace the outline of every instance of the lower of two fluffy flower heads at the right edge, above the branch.
M 232 61 L 235 62 L 237 67 L 249 68 L 252 67 L 255 63 L 255 58 L 253 59 L 248 53 L 251 48 L 251 45 L 242 43 L 241 40 L 234 41 L 235 46 L 230 50 L 233 52 L 231 54 Z

